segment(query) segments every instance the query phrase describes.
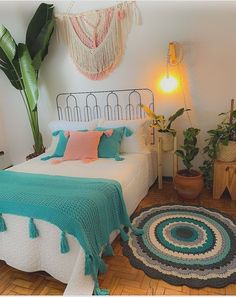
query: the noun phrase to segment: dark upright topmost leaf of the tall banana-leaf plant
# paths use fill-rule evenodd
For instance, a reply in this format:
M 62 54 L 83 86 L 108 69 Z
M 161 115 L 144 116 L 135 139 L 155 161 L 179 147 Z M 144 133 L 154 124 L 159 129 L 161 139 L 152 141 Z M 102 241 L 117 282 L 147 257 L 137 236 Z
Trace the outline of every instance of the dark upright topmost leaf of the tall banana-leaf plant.
M 54 29 L 53 5 L 41 3 L 31 19 L 26 32 L 26 45 L 38 71 L 48 53 L 48 45 Z

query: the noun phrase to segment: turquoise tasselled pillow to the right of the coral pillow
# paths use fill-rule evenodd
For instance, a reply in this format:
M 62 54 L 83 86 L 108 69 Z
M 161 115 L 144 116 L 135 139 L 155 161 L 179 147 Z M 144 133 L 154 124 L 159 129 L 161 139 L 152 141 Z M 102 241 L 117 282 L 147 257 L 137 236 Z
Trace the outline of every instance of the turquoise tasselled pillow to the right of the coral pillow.
M 126 127 L 119 127 L 119 128 L 96 128 L 97 131 L 107 131 L 113 130 L 111 136 L 106 136 L 105 134 L 102 135 L 100 139 L 100 143 L 98 146 L 98 157 L 99 158 L 115 158 L 117 161 L 123 160 L 120 157 L 120 146 L 121 141 L 124 136 L 130 136 L 133 134 L 131 130 Z

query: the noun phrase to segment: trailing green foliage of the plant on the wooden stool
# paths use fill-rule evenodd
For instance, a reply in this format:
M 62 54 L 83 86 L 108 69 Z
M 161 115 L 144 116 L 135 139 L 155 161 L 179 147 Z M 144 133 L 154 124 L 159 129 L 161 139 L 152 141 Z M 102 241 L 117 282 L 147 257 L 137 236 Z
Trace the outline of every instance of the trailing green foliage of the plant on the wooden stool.
M 205 139 L 207 145 L 204 147 L 203 153 L 207 155 L 208 159 L 200 166 L 205 186 L 209 190 L 213 185 L 214 161 L 217 159 L 220 144 L 228 145 L 229 141 L 236 141 L 236 110 L 220 113 L 219 116 L 224 116 L 224 118 L 217 128 L 207 131 L 209 137 Z

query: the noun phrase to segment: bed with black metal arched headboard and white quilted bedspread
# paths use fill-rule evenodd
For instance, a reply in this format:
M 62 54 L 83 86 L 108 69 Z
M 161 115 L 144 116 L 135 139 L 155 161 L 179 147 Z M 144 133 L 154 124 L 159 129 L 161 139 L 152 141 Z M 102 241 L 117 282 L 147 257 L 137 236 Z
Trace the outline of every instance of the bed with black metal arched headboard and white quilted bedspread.
M 102 99 L 99 99 L 99 96 Z M 59 119 L 69 121 L 91 121 L 101 117 L 114 121 L 132 120 L 144 117 L 141 110 L 142 103 L 153 108 L 153 102 L 153 94 L 149 89 L 63 93 L 57 97 L 57 111 Z M 155 141 L 153 131 L 150 131 L 149 141 L 152 144 Z M 45 153 L 45 155 L 48 154 L 50 149 Z M 116 162 L 114 159 L 99 159 L 89 164 L 69 161 L 57 166 L 52 165 L 50 160 L 42 162 L 41 157 L 16 165 L 9 170 L 116 180 L 122 187 L 129 215 L 134 212 L 156 179 L 155 150 L 145 153 L 124 153 L 122 162 Z M 1 260 L 27 272 L 46 271 L 55 279 L 67 283 L 65 295 L 92 294 L 94 281 L 91 276 L 84 274 L 84 251 L 72 235 L 68 235 L 70 252 L 61 254 L 58 249 L 60 232 L 53 224 L 36 220 L 40 237 L 30 240 L 27 218 L 5 214 L 4 219 L 9 231 L 1 233 L 0 236 Z M 114 240 L 117 234 L 113 232 L 110 240 Z

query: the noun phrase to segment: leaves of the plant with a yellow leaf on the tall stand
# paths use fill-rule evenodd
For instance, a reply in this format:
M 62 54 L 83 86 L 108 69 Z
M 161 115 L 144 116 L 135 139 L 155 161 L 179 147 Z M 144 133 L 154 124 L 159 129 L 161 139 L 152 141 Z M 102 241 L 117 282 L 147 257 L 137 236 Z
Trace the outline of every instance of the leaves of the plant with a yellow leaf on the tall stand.
M 171 115 L 168 119 L 165 118 L 164 115 L 155 114 L 148 106 L 142 105 L 142 108 L 146 112 L 146 114 L 153 119 L 153 127 L 157 128 L 159 132 L 170 132 L 173 136 L 176 135 L 175 129 L 172 128 L 173 122 L 180 116 L 184 114 L 185 111 L 189 111 L 190 109 L 180 108 L 173 115 Z

